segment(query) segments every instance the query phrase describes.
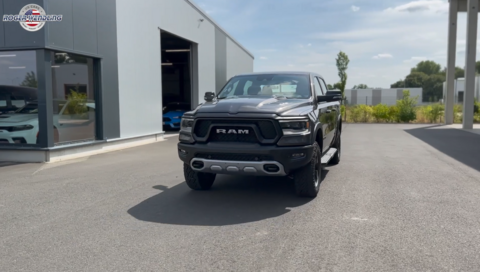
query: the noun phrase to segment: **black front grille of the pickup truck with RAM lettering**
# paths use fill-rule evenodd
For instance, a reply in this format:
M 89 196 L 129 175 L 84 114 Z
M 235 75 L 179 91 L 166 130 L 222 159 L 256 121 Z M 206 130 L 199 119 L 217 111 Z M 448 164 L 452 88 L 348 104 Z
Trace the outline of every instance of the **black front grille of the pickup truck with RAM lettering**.
M 204 138 L 208 135 L 209 129 L 212 128 L 208 141 L 257 143 L 258 139 L 253 129 L 250 129 L 250 133 L 248 135 L 214 133 L 214 129 L 216 128 L 241 129 L 245 128 L 245 125 L 256 128 L 261 134 L 259 136 L 265 140 L 274 140 L 278 136 L 273 120 L 197 120 L 194 133 L 195 136 Z

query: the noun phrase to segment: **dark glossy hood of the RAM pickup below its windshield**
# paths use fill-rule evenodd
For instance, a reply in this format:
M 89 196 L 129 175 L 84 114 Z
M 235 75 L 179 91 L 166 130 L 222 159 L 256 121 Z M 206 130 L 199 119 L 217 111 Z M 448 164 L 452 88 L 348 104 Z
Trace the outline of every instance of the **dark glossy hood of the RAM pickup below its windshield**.
M 286 111 L 311 105 L 308 99 L 276 99 L 276 98 L 226 98 L 214 102 L 206 102 L 194 113 L 269 113 L 282 114 Z

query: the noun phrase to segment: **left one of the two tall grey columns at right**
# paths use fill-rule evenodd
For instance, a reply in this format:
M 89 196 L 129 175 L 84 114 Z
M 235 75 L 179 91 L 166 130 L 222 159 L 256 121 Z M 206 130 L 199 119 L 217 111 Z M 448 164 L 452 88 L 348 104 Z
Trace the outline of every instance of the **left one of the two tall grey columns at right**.
M 448 16 L 448 53 L 447 53 L 447 84 L 445 92 L 445 124 L 453 124 L 453 105 L 455 103 L 455 61 L 457 57 L 457 21 L 458 1 L 450 0 Z

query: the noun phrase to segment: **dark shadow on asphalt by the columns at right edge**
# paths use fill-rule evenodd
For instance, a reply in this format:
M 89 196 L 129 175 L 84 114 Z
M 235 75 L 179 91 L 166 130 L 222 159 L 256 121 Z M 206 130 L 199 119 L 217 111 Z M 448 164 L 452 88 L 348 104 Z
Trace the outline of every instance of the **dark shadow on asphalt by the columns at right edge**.
M 422 127 L 405 130 L 451 158 L 480 171 L 480 135 L 460 129 Z

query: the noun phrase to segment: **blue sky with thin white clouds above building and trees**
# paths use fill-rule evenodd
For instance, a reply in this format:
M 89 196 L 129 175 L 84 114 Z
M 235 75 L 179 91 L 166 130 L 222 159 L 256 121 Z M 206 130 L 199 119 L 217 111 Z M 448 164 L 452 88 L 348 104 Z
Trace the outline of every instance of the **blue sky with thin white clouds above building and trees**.
M 343 51 L 350 59 L 347 88 L 389 88 L 422 60 L 446 66 L 448 0 L 193 1 L 255 56 L 256 72 L 312 71 L 333 85 Z M 460 67 L 466 19 L 459 14 Z

